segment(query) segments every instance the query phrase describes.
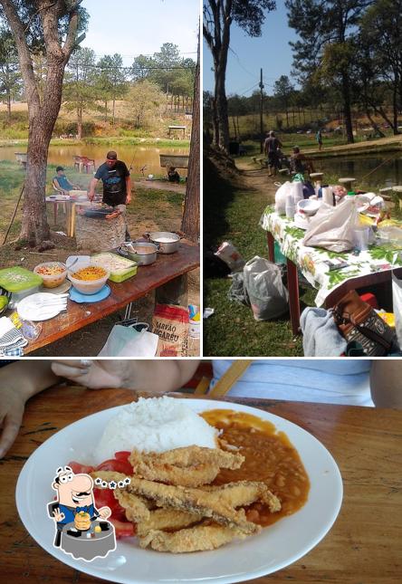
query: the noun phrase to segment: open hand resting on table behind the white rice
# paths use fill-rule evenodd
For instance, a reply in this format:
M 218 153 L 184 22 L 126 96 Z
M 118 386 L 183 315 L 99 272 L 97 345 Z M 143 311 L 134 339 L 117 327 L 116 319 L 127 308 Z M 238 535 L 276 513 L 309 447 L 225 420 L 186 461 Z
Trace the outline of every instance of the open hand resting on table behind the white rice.
M 86 388 L 123 388 L 129 361 L 57 359 L 52 363 L 55 375 L 70 379 Z

